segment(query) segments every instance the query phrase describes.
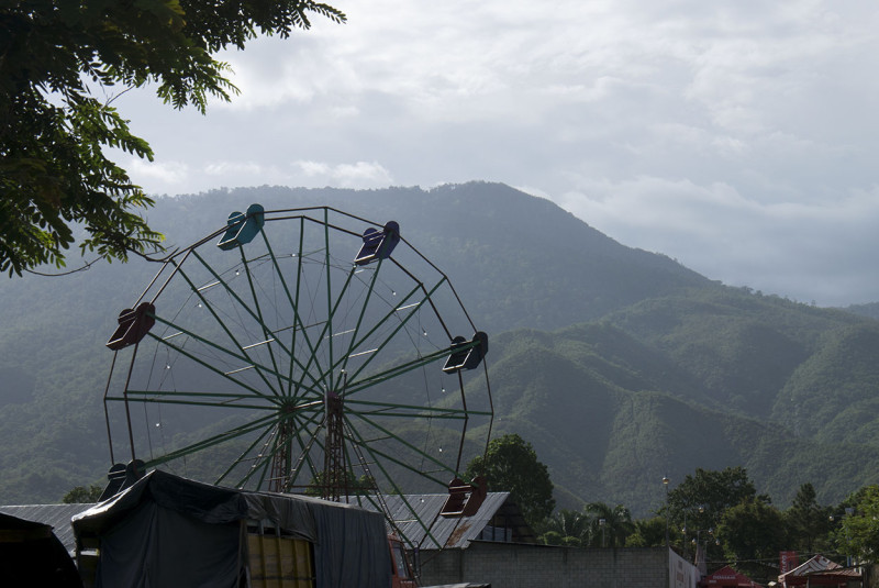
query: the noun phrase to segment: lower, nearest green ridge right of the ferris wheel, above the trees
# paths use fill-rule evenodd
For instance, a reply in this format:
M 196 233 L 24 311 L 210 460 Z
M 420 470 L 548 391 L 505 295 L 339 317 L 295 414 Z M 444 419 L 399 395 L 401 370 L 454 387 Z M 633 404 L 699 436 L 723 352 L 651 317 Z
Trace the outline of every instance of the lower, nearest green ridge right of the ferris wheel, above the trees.
M 601 497 L 644 512 L 660 503 L 663 476 L 682 479 L 694 467 L 744 465 L 782 503 L 802 481 L 831 501 L 877 479 L 879 457 L 867 445 L 820 443 L 785 422 L 731 413 L 661 352 L 607 323 L 504 333 L 494 350 L 497 426 L 533 441 L 564 497 Z

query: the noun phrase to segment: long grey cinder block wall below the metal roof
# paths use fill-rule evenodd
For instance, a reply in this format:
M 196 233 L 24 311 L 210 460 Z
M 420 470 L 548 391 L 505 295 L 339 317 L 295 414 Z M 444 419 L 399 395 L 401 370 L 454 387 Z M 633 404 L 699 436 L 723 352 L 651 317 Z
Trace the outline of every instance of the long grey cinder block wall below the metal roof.
M 667 588 L 665 547 L 585 550 L 472 542 L 422 554 L 421 585 L 490 583 L 491 588 Z

